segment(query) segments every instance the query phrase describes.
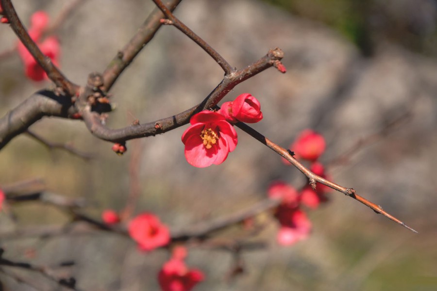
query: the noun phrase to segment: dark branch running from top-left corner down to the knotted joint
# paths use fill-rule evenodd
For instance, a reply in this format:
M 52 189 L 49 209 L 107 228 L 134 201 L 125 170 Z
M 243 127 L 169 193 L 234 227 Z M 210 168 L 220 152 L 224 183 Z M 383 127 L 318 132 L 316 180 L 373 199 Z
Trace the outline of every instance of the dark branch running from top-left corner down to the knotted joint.
M 12 30 L 17 34 L 20 41 L 29 50 L 36 62 L 44 69 L 50 80 L 53 81 L 56 86 L 62 88 L 69 96 L 74 96 L 79 86 L 69 81 L 61 71 L 53 65 L 50 58 L 41 52 L 18 18 L 11 0 L 0 0 L 0 3 L 3 7 L 4 15 L 9 19 Z

